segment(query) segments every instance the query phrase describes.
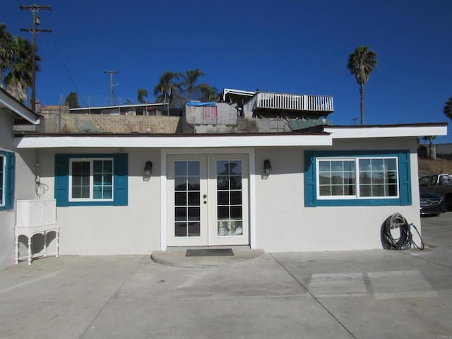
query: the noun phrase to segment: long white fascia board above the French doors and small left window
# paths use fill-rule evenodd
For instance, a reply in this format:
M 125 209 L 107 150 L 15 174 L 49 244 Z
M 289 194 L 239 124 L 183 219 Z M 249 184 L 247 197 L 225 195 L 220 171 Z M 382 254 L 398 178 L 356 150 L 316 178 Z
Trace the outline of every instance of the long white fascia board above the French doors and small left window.
M 16 148 L 215 148 L 268 146 L 331 146 L 328 134 L 276 134 L 262 136 L 21 136 L 15 139 Z

